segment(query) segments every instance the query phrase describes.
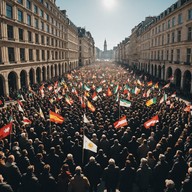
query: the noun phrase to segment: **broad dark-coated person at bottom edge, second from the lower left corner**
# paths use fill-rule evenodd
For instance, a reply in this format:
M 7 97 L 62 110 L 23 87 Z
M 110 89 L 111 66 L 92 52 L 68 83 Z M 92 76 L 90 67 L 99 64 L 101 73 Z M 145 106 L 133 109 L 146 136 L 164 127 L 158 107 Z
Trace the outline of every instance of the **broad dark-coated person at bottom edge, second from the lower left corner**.
M 41 185 L 34 174 L 34 166 L 30 165 L 27 172 L 21 178 L 20 192 L 40 192 Z

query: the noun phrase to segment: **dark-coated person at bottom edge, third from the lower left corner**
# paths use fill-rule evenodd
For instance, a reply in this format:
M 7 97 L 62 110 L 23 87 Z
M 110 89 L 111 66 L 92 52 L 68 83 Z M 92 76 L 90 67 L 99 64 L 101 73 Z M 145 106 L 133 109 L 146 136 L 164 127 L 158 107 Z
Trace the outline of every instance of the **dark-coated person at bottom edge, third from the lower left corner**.
M 41 184 L 41 191 L 42 192 L 53 192 L 55 191 L 57 185 L 55 178 L 50 173 L 50 165 L 46 164 L 43 167 L 43 172 L 40 175 L 40 184 Z

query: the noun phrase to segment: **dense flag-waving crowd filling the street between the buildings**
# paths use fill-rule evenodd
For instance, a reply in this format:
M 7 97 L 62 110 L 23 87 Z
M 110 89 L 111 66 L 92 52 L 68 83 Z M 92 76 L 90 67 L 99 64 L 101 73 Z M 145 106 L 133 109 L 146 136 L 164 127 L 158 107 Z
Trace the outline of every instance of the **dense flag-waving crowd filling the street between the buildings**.
M 191 113 L 174 92 L 171 82 L 114 63 L 12 92 L 15 102 L 0 108 L 0 127 L 12 125 L 0 140 L 0 191 L 192 192 Z M 50 121 L 50 111 L 64 121 Z M 123 116 L 128 124 L 115 128 Z M 97 153 L 83 149 L 84 135 Z

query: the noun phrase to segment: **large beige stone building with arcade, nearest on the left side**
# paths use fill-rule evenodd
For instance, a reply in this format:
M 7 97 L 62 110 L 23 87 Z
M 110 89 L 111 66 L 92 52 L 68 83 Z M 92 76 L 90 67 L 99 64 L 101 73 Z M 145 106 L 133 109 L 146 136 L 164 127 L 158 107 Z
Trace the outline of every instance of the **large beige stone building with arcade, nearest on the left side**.
M 55 0 L 0 1 L 0 95 L 78 66 L 78 29 Z

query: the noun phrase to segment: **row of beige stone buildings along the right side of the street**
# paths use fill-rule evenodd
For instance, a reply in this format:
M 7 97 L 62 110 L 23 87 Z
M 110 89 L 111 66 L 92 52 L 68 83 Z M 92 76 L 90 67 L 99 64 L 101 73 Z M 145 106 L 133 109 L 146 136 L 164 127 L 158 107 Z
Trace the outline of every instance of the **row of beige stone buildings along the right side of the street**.
M 117 45 L 115 60 L 159 79 L 173 77 L 176 88 L 192 93 L 192 0 L 145 18 Z

